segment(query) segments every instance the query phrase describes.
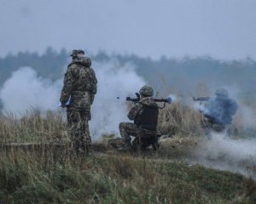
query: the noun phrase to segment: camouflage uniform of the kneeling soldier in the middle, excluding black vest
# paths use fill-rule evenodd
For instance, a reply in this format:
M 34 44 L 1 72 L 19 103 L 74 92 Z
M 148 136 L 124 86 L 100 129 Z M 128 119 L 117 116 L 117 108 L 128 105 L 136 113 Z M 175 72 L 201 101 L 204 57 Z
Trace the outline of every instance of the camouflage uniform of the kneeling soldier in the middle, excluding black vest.
M 145 87 L 147 88 L 148 86 L 144 86 L 143 88 L 145 88 Z M 140 91 L 140 94 L 142 95 L 141 91 Z M 152 89 L 152 94 L 148 94 L 148 95 L 149 96 L 147 96 L 147 94 L 145 94 L 145 96 L 142 95 L 143 96 L 142 99 L 140 99 L 138 103 L 135 103 L 131 107 L 131 111 L 129 111 L 127 116 L 130 120 L 134 121 L 134 123 L 132 123 L 132 122 L 120 122 L 119 123 L 120 135 L 123 139 L 123 144 L 125 144 L 126 147 L 131 146 L 131 137 L 130 136 L 137 137 L 138 134 L 140 133 L 142 127 L 144 129 L 151 129 L 153 131 L 156 130 L 157 122 L 155 122 L 154 127 L 144 127 L 143 124 L 139 124 L 139 122 L 137 121 L 138 117 L 143 114 L 143 109 L 145 106 L 155 107 L 157 109 L 157 114 L 158 114 L 158 106 L 156 105 L 156 103 L 154 102 L 154 99 L 152 97 L 153 89 Z

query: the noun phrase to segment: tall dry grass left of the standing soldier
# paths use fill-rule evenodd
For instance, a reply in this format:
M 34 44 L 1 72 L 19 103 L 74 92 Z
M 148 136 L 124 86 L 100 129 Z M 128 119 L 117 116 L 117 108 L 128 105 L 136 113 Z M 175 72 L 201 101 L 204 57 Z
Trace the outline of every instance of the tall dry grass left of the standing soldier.
M 18 119 L 15 115 L 0 118 L 0 144 L 26 142 L 61 142 L 67 140 L 66 123 L 61 113 L 28 111 Z

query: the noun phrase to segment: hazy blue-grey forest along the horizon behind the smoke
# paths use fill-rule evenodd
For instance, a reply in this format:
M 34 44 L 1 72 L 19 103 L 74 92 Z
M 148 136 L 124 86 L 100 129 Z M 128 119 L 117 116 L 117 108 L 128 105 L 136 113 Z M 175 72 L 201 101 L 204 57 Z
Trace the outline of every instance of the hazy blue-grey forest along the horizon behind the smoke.
M 31 66 L 41 77 L 60 79 L 63 77 L 64 67 L 68 64 L 68 55 L 69 52 L 64 48 L 60 52 L 47 48 L 42 55 L 20 52 L 0 58 L 0 88 L 20 66 Z M 170 90 L 192 90 L 206 83 L 213 88 L 236 86 L 247 93 L 256 92 L 256 61 L 250 58 L 223 61 L 209 56 L 187 56 L 182 59 L 163 56 L 154 60 L 134 54 L 107 54 L 102 51 L 90 57 L 93 63 L 107 63 L 111 59 L 117 60 L 120 65 L 131 63 L 136 67 L 139 76 L 153 85 L 167 86 Z

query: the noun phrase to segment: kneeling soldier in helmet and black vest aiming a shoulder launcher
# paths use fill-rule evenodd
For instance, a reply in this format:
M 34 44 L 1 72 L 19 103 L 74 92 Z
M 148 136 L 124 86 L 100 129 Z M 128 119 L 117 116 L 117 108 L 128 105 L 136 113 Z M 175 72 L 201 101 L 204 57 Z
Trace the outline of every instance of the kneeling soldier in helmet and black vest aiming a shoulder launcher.
M 122 137 L 125 150 L 131 149 L 131 136 L 138 136 L 140 131 L 156 131 L 159 109 L 153 99 L 153 88 L 143 86 L 140 89 L 140 100 L 131 107 L 128 118 L 132 122 L 120 122 L 119 131 Z

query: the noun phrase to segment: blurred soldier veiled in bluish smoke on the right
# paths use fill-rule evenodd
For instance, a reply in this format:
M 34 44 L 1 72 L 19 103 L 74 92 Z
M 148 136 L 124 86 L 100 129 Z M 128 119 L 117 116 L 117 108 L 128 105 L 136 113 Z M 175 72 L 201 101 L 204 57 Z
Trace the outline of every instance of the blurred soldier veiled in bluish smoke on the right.
M 214 99 L 207 99 L 205 107 L 201 110 L 205 116 L 203 127 L 210 127 L 211 129 L 221 132 L 226 125 L 230 125 L 233 116 L 236 114 L 236 101 L 230 99 L 228 91 L 224 88 L 218 88 L 215 92 Z

